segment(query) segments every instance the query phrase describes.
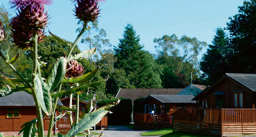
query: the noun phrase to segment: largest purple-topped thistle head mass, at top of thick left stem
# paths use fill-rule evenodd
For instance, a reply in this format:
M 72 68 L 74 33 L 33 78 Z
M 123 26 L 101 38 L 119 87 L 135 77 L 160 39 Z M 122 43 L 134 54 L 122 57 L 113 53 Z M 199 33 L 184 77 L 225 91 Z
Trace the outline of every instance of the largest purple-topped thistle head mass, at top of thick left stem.
M 20 49 L 30 49 L 33 32 L 38 34 L 38 42 L 44 38 L 48 20 L 44 5 L 49 5 L 52 0 L 11 0 L 10 3 L 13 4 L 12 8 L 18 10 L 17 16 L 10 23 L 13 42 Z

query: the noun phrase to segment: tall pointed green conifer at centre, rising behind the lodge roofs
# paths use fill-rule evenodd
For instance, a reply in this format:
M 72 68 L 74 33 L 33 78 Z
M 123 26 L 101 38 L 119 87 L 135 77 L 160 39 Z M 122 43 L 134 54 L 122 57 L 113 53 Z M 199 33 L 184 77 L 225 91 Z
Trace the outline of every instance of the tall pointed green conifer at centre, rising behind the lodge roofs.
M 157 63 L 151 54 L 143 50 L 140 37 L 131 24 L 125 27 L 123 38 L 119 39 L 118 46 L 114 47 L 114 66 L 123 69 L 130 84 L 135 88 L 162 88 Z

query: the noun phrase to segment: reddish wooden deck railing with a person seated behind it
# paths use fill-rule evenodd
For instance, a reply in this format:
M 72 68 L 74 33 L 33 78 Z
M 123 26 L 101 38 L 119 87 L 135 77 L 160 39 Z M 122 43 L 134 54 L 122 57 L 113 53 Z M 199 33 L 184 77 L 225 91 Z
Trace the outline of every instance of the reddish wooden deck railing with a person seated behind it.
M 142 123 L 169 123 L 169 114 L 134 113 L 134 122 Z

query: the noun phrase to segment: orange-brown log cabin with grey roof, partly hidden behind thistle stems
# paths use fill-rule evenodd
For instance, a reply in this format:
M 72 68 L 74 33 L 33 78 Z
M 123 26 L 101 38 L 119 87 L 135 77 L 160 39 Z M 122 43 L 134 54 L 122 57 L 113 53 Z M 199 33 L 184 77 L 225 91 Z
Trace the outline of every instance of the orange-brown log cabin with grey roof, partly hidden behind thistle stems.
M 58 100 L 58 105 L 62 105 Z M 56 112 L 57 113 L 57 112 Z M 0 97 L 0 132 L 5 136 L 17 136 L 20 127 L 37 117 L 34 98 L 31 94 L 18 91 L 5 97 Z M 43 114 L 44 134 L 48 133 L 49 117 Z M 52 134 L 57 134 L 57 127 L 52 128 Z

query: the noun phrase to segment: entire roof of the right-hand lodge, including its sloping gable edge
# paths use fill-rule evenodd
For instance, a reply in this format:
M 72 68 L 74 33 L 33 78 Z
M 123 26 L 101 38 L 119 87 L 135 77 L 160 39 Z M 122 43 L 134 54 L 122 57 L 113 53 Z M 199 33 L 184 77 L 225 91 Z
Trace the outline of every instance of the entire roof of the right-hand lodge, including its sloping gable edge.
M 201 94 L 209 91 L 212 87 L 214 87 L 217 83 L 219 83 L 224 78 L 228 78 L 229 80 L 234 81 L 238 85 L 248 89 L 249 91 L 256 91 L 256 74 L 239 74 L 239 73 L 225 73 L 218 81 L 216 81 L 212 86 L 207 87 L 200 94 L 195 96 L 192 100 L 196 100 Z

